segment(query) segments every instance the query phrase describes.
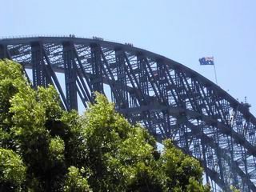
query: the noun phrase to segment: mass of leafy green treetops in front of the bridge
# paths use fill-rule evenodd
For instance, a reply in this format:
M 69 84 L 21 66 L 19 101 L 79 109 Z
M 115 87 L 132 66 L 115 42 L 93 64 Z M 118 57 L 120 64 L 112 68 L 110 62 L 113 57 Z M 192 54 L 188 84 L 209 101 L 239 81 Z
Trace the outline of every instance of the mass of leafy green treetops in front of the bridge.
M 102 94 L 66 112 L 53 86 L 34 90 L 22 67 L 0 61 L 0 191 L 210 191 L 202 167 L 152 136 Z

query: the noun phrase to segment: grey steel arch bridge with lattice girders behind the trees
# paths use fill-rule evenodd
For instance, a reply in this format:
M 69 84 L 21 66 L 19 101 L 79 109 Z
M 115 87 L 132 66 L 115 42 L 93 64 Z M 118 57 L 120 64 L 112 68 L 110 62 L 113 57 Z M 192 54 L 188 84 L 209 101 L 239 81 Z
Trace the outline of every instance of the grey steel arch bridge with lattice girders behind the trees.
M 256 118 L 194 70 L 130 43 L 74 35 L 2 38 L 0 58 L 31 69 L 34 87 L 54 85 L 66 110 L 78 110 L 78 99 L 87 107 L 108 85 L 118 111 L 197 158 L 213 189 L 256 191 Z

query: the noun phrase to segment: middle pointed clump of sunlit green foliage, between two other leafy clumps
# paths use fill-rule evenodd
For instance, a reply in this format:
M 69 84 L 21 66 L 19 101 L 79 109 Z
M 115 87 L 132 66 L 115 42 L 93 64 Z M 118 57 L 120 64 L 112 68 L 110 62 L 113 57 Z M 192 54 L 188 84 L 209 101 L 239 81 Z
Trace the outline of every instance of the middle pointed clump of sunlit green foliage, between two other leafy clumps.
M 86 142 L 86 162 L 90 170 L 88 181 L 94 191 L 124 191 L 134 186 L 143 174 L 156 178 L 153 171 L 153 138 L 139 126 L 130 126 L 114 111 L 101 94 L 82 118 L 82 130 Z M 152 165 L 152 166 L 151 166 Z M 155 179 L 157 181 L 157 179 Z M 134 190 L 134 188 L 132 188 Z

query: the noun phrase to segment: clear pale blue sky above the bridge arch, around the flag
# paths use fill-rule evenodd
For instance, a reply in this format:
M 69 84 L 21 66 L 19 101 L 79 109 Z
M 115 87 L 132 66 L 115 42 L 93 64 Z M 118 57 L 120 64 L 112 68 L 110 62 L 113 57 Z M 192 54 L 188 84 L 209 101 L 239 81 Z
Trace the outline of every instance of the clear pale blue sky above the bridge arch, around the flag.
M 98 36 L 162 54 L 252 105 L 256 115 L 255 0 L 0 0 L 0 37 Z

